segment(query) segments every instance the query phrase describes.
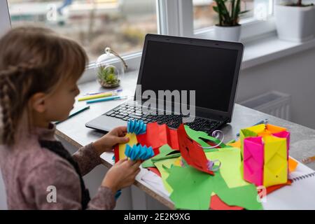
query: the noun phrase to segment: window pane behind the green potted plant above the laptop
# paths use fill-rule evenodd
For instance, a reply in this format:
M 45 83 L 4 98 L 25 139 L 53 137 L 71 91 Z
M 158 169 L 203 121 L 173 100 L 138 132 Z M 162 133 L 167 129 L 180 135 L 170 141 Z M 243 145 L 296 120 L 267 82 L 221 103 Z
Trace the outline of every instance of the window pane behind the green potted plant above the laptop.
M 227 6 L 229 1 L 227 1 Z M 193 0 L 194 29 L 211 27 L 218 24 L 218 13 L 213 9 L 216 6 L 214 0 Z M 272 14 L 272 0 L 242 0 L 241 10 L 249 10 L 241 15 L 240 19 L 257 18 L 264 20 Z

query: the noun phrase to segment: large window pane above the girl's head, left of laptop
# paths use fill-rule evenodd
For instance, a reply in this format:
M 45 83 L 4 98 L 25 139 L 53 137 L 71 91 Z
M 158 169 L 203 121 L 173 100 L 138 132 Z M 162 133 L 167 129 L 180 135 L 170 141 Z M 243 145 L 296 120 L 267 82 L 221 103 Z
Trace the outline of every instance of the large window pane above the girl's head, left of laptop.
M 8 0 L 12 26 L 49 27 L 78 41 L 97 59 L 106 46 L 119 54 L 141 50 L 157 33 L 155 0 Z

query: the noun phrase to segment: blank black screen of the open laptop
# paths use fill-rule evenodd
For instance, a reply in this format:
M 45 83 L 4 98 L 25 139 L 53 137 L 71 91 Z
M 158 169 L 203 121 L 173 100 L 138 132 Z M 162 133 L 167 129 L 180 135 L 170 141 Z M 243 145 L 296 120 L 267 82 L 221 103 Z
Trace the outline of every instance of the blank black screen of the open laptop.
M 196 106 L 228 111 L 237 50 L 148 41 L 141 92 L 195 90 Z M 188 100 L 189 102 L 189 100 Z

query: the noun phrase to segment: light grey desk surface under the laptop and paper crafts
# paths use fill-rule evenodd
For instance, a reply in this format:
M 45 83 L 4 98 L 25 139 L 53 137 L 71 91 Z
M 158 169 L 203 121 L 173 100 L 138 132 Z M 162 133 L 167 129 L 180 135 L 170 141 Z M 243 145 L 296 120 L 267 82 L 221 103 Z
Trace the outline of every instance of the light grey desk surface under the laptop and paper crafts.
M 132 71 L 130 73 L 125 74 L 125 78 L 121 83 L 121 87 L 123 88 L 123 92 L 121 95 L 133 96 L 134 90 L 137 84 L 137 76 L 138 71 Z M 92 81 L 89 83 L 84 83 L 79 85 L 80 88 L 80 96 L 85 92 L 94 92 L 97 90 L 101 90 L 97 81 Z M 80 148 L 81 146 L 85 146 L 92 141 L 99 139 L 102 137 L 103 133 L 96 132 L 85 127 L 85 123 L 96 118 L 97 116 L 101 116 L 106 111 L 109 111 L 115 106 L 123 103 L 124 101 L 116 100 L 110 102 L 102 102 L 97 104 L 91 104 L 89 110 L 84 111 L 83 113 L 79 113 L 77 116 L 70 118 L 69 120 L 65 120 L 63 123 L 59 123 L 57 125 L 57 135 L 62 139 L 68 141 L 73 146 Z M 77 102 L 75 106 L 85 105 L 85 102 Z M 309 156 L 315 155 L 315 130 L 312 130 L 308 127 L 304 127 L 302 125 L 297 125 L 295 123 L 290 123 L 287 120 L 282 120 L 280 118 L 276 118 L 274 116 L 269 116 L 265 113 L 261 113 L 259 111 L 255 111 L 253 109 L 248 109 L 239 104 L 235 104 L 235 110 L 233 113 L 232 123 L 229 125 L 225 125 L 222 131 L 225 133 L 225 139 L 230 141 L 235 139 L 236 134 L 239 132 L 241 128 L 249 127 L 260 120 L 268 119 L 269 123 L 274 125 L 279 125 L 281 127 L 286 127 L 291 132 L 290 139 L 290 156 L 295 158 L 298 161 L 301 161 L 302 158 L 306 158 Z M 105 153 L 103 158 L 103 163 L 106 167 L 111 167 L 113 165 L 113 153 Z M 315 169 L 315 162 L 309 164 L 311 169 Z M 170 209 L 174 208 L 174 204 L 169 200 L 168 197 L 161 194 L 158 190 L 151 188 L 146 182 L 141 181 L 141 179 L 137 178 L 135 185 L 139 187 L 144 192 L 151 195 L 156 200 L 162 202 Z

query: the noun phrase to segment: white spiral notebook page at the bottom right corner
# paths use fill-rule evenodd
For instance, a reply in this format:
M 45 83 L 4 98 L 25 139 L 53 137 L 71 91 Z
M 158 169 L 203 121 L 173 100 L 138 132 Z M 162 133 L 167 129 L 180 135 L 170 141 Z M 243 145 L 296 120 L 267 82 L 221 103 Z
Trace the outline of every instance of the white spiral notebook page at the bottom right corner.
M 314 210 L 315 209 L 315 172 L 298 163 L 295 172 L 290 174 L 291 186 L 285 186 L 270 193 L 262 206 L 266 210 Z

